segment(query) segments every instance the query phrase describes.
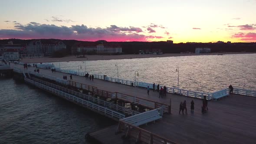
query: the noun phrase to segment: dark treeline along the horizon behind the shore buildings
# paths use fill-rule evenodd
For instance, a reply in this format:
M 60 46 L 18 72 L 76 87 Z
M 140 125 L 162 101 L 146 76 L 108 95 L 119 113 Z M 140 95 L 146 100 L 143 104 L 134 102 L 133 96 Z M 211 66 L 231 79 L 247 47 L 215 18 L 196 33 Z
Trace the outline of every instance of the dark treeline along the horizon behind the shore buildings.
M 72 46 L 77 43 L 92 42 L 77 41 L 77 40 L 61 40 L 61 39 L 2 39 L 0 44 L 7 44 L 13 41 L 13 44 L 21 44 L 26 46 L 33 40 L 40 40 L 42 43 L 53 43 L 62 41 L 66 44 L 66 51 L 71 54 Z M 211 52 L 256 52 L 256 43 L 167 43 L 167 42 L 106 42 L 109 45 L 120 45 L 125 54 L 138 54 L 139 50 L 143 49 L 161 49 L 164 53 L 181 53 L 181 52 L 195 52 L 196 48 L 211 48 Z

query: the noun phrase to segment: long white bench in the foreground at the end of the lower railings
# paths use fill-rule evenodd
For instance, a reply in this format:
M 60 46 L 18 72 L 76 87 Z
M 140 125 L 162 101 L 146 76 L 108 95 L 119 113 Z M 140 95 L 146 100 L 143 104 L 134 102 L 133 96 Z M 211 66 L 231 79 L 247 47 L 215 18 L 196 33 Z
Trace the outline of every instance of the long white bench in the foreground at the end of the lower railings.
M 134 116 L 131 116 L 128 118 L 121 119 L 121 121 L 125 121 L 128 124 L 138 127 L 139 125 L 147 124 L 148 122 L 156 121 L 160 118 L 162 118 L 162 116 L 160 116 L 158 109 L 154 109 L 151 111 L 143 112 L 138 115 L 134 115 Z

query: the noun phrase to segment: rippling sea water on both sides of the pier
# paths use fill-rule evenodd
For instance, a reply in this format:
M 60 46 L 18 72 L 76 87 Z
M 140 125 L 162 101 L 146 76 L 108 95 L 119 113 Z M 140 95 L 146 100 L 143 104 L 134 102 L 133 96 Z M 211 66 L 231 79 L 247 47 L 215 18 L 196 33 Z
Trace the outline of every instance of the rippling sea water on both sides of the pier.
M 90 74 L 156 83 L 198 92 L 227 88 L 256 90 L 256 54 L 178 56 L 54 62 Z M 117 69 L 118 65 L 118 69 Z M 178 67 L 178 68 L 177 68 Z M 176 71 L 177 69 L 177 71 Z M 118 72 L 117 72 L 118 71 Z M 115 121 L 38 88 L 0 77 L 0 143 L 86 144 L 85 134 Z

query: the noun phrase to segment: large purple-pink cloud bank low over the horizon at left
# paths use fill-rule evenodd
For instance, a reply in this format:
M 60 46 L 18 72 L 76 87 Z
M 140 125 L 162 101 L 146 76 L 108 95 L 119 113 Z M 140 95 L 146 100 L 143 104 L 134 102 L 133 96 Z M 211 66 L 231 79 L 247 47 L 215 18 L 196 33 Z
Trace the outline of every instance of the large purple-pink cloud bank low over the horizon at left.
M 30 22 L 26 25 L 15 23 L 15 29 L 0 29 L 0 37 L 4 39 L 77 39 L 96 41 L 105 39 L 107 41 L 150 41 L 151 39 L 162 39 L 163 36 L 152 36 L 138 34 L 141 28 L 119 27 L 111 25 L 107 28 L 92 28 L 85 25 L 56 26 L 54 24 L 39 24 Z

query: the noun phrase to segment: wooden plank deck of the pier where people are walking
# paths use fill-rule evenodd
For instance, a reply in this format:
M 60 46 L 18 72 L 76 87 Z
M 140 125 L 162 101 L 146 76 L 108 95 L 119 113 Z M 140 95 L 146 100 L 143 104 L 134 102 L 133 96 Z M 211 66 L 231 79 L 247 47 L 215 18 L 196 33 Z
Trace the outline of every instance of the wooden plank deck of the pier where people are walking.
M 15 66 L 23 68 L 22 65 Z M 29 69 L 33 71 L 35 68 L 32 67 Z M 40 69 L 40 73 L 53 75 L 61 79 L 63 75 L 67 75 L 69 79 L 68 74 L 60 72 L 52 73 L 49 69 Z M 141 128 L 179 144 L 255 144 L 255 97 L 233 94 L 219 101 L 208 101 L 209 111 L 206 114 L 202 114 L 202 100 L 198 98 L 170 93 L 164 98 L 158 98 L 158 92 L 150 91 L 150 95 L 148 96 L 147 90 L 144 88 L 134 88 L 128 85 L 106 82 L 101 79 L 94 79 L 92 82 L 85 80 L 81 76 L 72 76 L 75 82 L 92 85 L 109 92 L 134 95 L 167 105 L 170 105 L 171 99 L 171 115 L 164 115 L 163 121 L 157 121 L 155 124 L 142 125 Z M 184 100 L 187 101 L 187 115 L 179 115 L 179 104 Z M 190 114 L 191 100 L 194 100 L 195 103 L 194 115 Z M 106 135 L 102 136 L 97 135 L 102 134 L 100 132 L 95 133 L 95 137 L 103 137 L 102 139 L 105 139 L 105 136 L 110 137 L 109 134 L 113 134 L 112 138 L 114 138 L 115 131 L 112 129 L 105 129 L 104 133 Z M 106 141 L 104 143 L 107 144 Z

